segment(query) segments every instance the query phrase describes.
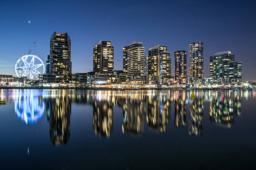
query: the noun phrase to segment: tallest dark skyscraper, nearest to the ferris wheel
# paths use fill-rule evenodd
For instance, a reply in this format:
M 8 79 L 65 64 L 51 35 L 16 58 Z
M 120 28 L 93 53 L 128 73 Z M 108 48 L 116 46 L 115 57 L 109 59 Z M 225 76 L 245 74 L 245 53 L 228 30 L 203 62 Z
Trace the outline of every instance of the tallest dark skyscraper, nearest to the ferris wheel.
M 50 73 L 70 74 L 71 41 L 67 33 L 54 32 L 51 35 Z

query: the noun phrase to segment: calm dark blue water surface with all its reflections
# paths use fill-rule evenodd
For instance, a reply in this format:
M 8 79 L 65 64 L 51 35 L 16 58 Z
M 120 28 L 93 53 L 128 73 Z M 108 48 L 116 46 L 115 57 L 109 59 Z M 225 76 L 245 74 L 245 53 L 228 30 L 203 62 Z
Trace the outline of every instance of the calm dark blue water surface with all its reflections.
M 252 169 L 255 91 L 0 90 L 0 169 Z

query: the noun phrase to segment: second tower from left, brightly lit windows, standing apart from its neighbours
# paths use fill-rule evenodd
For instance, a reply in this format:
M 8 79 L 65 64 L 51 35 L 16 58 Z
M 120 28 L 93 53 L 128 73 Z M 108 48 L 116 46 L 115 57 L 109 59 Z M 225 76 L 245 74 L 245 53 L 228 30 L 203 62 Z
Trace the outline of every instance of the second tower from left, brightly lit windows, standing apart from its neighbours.
M 114 47 L 111 41 L 102 41 L 93 46 L 93 71 L 95 74 L 113 75 Z

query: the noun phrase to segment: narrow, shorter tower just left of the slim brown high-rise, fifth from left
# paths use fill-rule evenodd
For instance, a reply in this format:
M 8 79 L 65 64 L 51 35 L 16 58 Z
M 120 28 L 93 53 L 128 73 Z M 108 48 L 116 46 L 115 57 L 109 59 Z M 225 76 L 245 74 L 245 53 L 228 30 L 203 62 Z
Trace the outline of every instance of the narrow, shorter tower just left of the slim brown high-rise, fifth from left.
M 175 76 L 187 77 L 187 51 L 174 52 Z

